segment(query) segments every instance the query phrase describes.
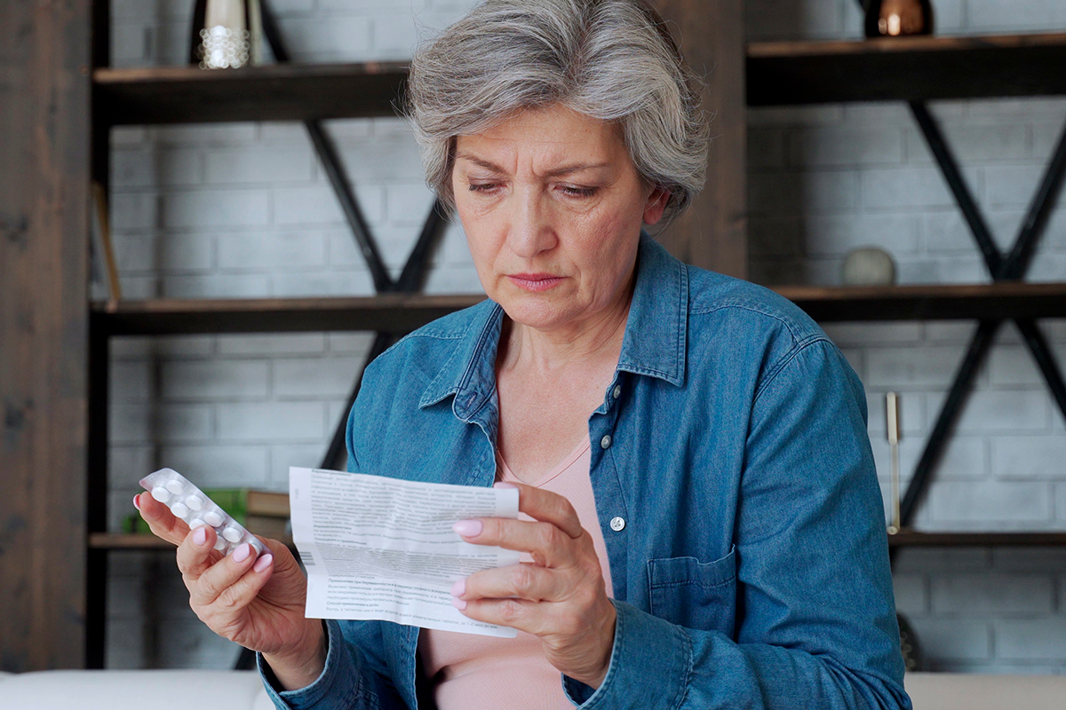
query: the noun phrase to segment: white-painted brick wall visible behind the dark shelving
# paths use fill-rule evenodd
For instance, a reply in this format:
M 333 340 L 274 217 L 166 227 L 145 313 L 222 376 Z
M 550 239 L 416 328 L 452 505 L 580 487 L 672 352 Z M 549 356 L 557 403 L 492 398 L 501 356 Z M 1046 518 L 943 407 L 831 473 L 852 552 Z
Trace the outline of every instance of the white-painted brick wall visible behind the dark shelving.
M 188 0 L 112 0 L 115 64 L 181 64 Z M 272 0 L 301 62 L 402 60 L 472 0 Z M 1066 30 L 1061 0 L 934 0 L 940 34 Z M 749 39 L 857 38 L 854 0 L 747 0 Z M 713 76 L 710 77 L 713 81 Z M 1002 248 L 1062 132 L 1066 101 L 932 106 Z M 748 112 L 752 275 L 839 282 L 853 248 L 878 245 L 900 281 L 980 282 L 986 270 L 903 104 Z M 398 119 L 327 121 L 393 273 L 432 198 Z M 113 132 L 112 224 L 130 297 L 367 295 L 372 284 L 297 123 L 124 128 Z M 713 150 L 713 148 L 712 148 Z M 1066 278 L 1066 209 L 1032 277 Z M 435 254 L 431 292 L 478 290 L 462 230 Z M 870 434 L 888 495 L 884 393 L 902 394 L 905 479 L 921 455 L 969 323 L 835 324 L 867 384 Z M 1066 365 L 1066 323 L 1047 323 Z M 111 524 L 136 480 L 171 465 L 205 486 L 287 486 L 317 465 L 370 345 L 365 333 L 120 339 L 113 343 Z M 1028 350 L 1004 327 L 981 368 L 923 529 L 1066 530 L 1066 426 Z M 148 573 L 146 568 L 159 573 Z M 158 579 L 155 588 L 146 580 Z M 1066 554 L 907 549 L 895 594 L 935 668 L 1066 673 Z M 114 554 L 109 665 L 212 667 L 232 644 L 192 616 L 166 556 Z M 152 611 L 155 610 L 155 611 Z M 158 622 L 152 622 L 152 615 Z M 152 626 L 152 624 L 156 626 Z M 152 641 L 156 639 L 156 641 Z M 152 660 L 155 659 L 155 660 Z

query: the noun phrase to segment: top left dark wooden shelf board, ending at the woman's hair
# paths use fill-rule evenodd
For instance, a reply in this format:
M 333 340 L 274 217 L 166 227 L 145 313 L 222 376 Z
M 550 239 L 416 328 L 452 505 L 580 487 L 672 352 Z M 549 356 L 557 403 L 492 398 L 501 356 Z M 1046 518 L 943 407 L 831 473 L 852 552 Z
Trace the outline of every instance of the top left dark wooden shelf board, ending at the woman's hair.
M 399 62 L 101 68 L 93 103 L 110 126 L 367 118 L 397 115 L 406 80 Z

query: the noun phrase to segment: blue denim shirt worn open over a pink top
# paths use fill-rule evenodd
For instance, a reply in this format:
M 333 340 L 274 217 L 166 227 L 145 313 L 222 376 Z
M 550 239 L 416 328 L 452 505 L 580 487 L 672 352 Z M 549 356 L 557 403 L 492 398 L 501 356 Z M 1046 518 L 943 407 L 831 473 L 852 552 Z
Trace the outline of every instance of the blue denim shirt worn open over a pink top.
M 406 336 L 366 371 L 349 469 L 491 485 L 491 301 Z M 614 380 L 588 418 L 617 610 L 582 708 L 909 708 L 884 511 L 858 377 L 759 286 L 642 236 Z M 418 628 L 329 621 L 326 667 L 279 708 L 425 708 Z

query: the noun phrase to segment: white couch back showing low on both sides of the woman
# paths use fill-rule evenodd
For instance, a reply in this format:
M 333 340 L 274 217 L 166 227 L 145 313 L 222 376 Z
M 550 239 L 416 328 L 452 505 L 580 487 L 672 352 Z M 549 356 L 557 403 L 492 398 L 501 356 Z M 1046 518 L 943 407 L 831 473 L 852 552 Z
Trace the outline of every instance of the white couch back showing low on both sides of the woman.
M 1066 676 L 912 673 L 907 675 L 906 687 L 915 710 L 1066 708 Z M 251 671 L 0 673 L 0 710 L 270 710 L 273 707 L 258 674 Z

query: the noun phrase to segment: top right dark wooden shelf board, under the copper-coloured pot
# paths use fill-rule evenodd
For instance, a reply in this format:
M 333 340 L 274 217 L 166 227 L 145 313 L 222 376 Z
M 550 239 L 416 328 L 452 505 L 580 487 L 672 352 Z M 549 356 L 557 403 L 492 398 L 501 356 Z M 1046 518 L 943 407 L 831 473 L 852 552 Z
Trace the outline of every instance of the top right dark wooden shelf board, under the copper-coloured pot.
M 750 106 L 1066 94 L 1066 33 L 747 46 Z

